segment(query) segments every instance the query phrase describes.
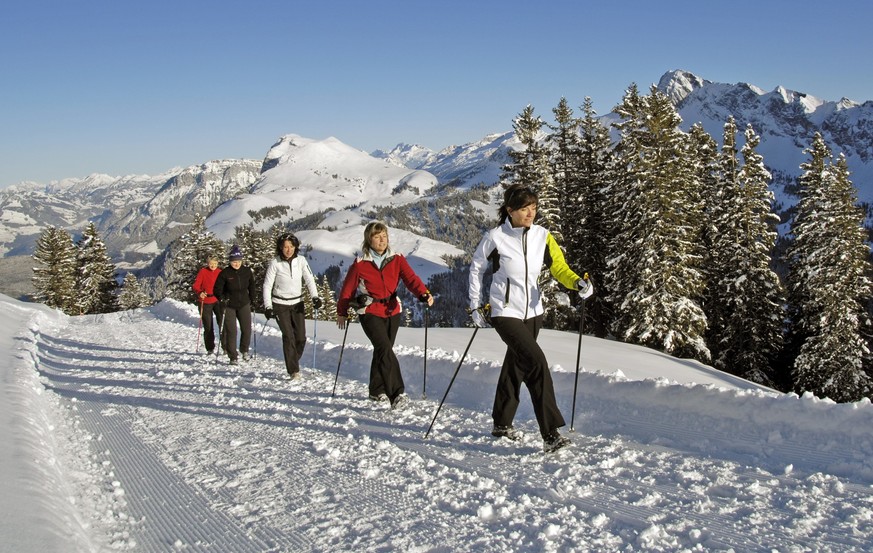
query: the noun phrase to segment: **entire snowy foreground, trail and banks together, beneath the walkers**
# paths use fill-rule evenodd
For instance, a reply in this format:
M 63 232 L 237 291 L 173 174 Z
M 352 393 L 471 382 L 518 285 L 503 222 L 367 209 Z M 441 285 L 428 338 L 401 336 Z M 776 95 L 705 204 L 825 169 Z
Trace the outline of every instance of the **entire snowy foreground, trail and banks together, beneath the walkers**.
M 365 399 L 370 349 L 308 323 L 304 378 L 275 323 L 239 367 L 195 353 L 172 301 L 70 318 L 0 298 L 0 543 L 30 551 L 862 551 L 873 407 L 763 390 L 585 337 L 573 445 L 544 455 L 523 397 L 495 441 L 504 347 L 423 329 L 396 351 L 411 408 Z M 570 420 L 577 336 L 544 332 Z M 457 379 L 430 436 L 446 387 Z M 566 430 L 566 429 L 565 429 Z

